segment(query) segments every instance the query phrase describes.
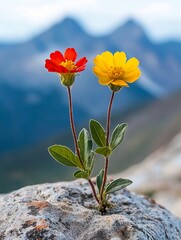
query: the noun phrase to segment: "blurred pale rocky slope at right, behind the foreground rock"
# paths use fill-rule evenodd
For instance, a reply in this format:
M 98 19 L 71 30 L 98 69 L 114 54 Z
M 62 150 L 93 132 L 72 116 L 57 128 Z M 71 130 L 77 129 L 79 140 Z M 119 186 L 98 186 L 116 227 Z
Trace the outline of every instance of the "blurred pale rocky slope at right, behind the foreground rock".
M 131 179 L 131 190 L 154 197 L 181 217 L 181 133 L 143 162 L 114 177 Z

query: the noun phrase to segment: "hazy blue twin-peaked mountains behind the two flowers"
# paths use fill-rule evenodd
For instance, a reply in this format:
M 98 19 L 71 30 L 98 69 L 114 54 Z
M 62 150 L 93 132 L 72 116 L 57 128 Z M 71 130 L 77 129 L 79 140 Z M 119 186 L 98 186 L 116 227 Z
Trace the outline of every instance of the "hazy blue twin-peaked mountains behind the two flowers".
M 100 86 L 91 71 L 93 58 L 102 51 L 125 51 L 129 58 L 135 56 L 140 60 L 142 70 L 139 81 L 116 94 L 113 112 L 119 111 L 129 116 L 130 111 L 134 113 L 135 109 L 138 111 L 143 105 L 181 89 L 181 43 L 174 41 L 154 43 L 144 29 L 133 20 L 127 21 L 108 35 L 95 37 L 85 32 L 73 19 L 66 18 L 30 41 L 19 44 L 2 43 L 0 44 L 1 171 L 5 168 L 7 171 L 12 170 L 13 166 L 14 169 L 16 166 L 20 168 L 22 166 L 24 172 L 27 165 L 24 159 L 29 159 L 28 170 L 31 174 L 34 172 L 34 180 L 39 179 L 39 170 L 35 176 L 34 165 L 32 171 L 30 165 L 37 159 L 44 157 L 47 159 L 47 152 L 42 156 L 33 157 L 32 154 L 36 155 L 40 152 L 38 149 L 36 151 L 32 149 L 42 141 L 53 144 L 53 141 L 46 139 L 53 139 L 55 135 L 61 135 L 61 142 L 67 138 L 69 119 L 66 89 L 60 85 L 56 74 L 48 73 L 44 68 L 44 61 L 49 58 L 50 52 L 64 51 L 67 47 L 74 47 L 79 54 L 78 57 L 86 56 L 89 60 L 87 69 L 77 76 L 72 88 L 78 127 L 90 117 L 102 118 L 106 114 L 110 90 Z M 175 109 L 176 105 L 172 108 Z M 152 116 L 150 117 L 152 119 Z M 148 126 L 150 131 L 152 122 L 145 125 L 145 132 Z M 142 137 L 141 133 L 139 135 L 139 128 L 134 131 L 134 140 L 137 136 Z M 41 146 L 40 144 L 40 148 Z M 44 145 L 47 146 L 48 144 Z M 22 150 L 22 147 L 25 150 Z M 130 152 L 129 154 L 132 155 Z M 138 156 L 141 154 L 142 151 Z M 11 170 L 9 170 L 10 175 Z M 18 171 L 13 173 L 14 176 L 19 176 Z M 61 172 L 61 174 L 66 173 Z M 27 172 L 24 179 L 27 179 L 26 175 Z M 20 179 L 22 179 L 21 174 Z M 20 182 L 22 183 L 21 180 Z

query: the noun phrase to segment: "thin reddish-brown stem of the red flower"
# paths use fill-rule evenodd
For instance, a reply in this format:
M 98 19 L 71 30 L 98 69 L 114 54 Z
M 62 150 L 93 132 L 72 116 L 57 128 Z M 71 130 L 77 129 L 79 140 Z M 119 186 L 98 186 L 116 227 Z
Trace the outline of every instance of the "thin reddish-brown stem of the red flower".
M 76 130 L 75 130 L 74 117 L 73 117 L 72 94 L 71 94 L 71 89 L 70 89 L 70 87 L 67 87 L 67 90 L 68 90 L 68 99 L 69 99 L 70 125 L 71 125 L 72 135 L 73 135 L 73 139 L 74 139 L 75 151 L 76 151 L 76 153 L 77 153 L 77 156 L 78 156 L 78 158 L 79 158 L 79 161 L 80 161 L 82 167 L 84 167 L 84 164 L 83 164 L 82 159 L 81 159 L 81 157 L 80 157 L 80 151 L 79 151 L 78 141 L 77 141 L 77 134 L 76 134 Z M 90 186 L 91 186 L 92 193 L 93 193 L 96 201 L 99 203 L 99 199 L 98 199 L 98 197 L 97 197 L 94 184 L 92 183 L 91 179 L 88 179 L 88 182 L 89 182 L 89 184 L 90 184 Z

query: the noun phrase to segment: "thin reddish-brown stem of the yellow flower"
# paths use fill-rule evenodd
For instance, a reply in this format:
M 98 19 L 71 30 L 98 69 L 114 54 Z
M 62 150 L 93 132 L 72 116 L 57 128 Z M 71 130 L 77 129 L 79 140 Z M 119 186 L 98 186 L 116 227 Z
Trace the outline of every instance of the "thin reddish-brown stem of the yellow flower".
M 109 134 L 110 134 L 110 124 L 111 124 L 111 109 L 112 109 L 112 103 L 114 99 L 114 94 L 115 92 L 112 92 L 110 102 L 109 102 L 109 107 L 107 111 L 107 127 L 106 127 L 106 146 L 109 146 Z M 103 181 L 101 185 L 101 190 L 100 190 L 100 199 L 101 201 L 103 200 L 103 191 L 104 187 L 106 185 L 107 181 L 107 173 L 108 173 L 108 165 L 109 165 L 109 158 L 105 158 L 105 167 L 104 167 L 104 176 L 103 176 Z

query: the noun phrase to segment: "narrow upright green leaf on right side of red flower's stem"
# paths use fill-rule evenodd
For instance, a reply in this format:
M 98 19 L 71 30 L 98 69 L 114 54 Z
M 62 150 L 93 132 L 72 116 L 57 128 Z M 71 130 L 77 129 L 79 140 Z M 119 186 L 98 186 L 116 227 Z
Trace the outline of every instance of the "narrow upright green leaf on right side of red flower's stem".
M 87 164 L 90 152 L 92 150 L 92 140 L 89 137 L 88 131 L 83 128 L 79 133 L 78 145 L 80 148 L 80 156 L 82 161 Z

